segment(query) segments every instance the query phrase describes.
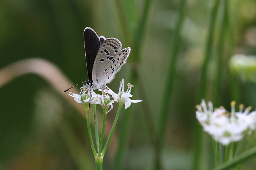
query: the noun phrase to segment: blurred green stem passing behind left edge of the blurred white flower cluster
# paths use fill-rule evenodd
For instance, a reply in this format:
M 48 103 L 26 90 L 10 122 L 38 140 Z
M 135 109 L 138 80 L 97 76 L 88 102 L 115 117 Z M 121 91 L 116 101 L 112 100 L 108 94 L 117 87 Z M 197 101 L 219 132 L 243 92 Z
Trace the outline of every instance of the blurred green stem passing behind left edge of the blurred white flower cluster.
M 213 44 L 213 32 L 214 32 L 214 26 L 215 21 L 217 18 L 217 12 L 219 7 L 220 0 L 216 0 L 213 8 L 212 8 L 212 15 L 211 15 L 211 22 L 209 26 L 209 32 L 208 32 L 208 40 L 206 44 L 206 52 L 205 52 L 205 60 L 204 65 L 202 68 L 202 75 L 201 75 L 201 81 L 200 81 L 200 87 L 199 87 L 199 95 L 198 95 L 198 101 L 197 103 L 200 103 L 202 98 L 205 96 L 205 89 L 206 89 L 206 68 L 208 67 L 210 63 L 210 55 L 212 53 L 212 44 Z M 198 121 L 195 120 L 194 122 L 194 135 L 195 135 L 195 142 L 194 142 L 194 157 L 193 157 L 193 170 L 198 170 L 200 166 L 200 156 L 201 156 L 201 140 L 202 140 L 202 128 L 198 124 Z

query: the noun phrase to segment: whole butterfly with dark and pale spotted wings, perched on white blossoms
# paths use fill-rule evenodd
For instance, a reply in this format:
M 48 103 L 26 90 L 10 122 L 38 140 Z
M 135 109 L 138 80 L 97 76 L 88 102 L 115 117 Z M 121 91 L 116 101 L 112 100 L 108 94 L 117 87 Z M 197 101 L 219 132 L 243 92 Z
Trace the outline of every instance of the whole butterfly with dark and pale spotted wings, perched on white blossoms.
M 84 82 L 86 82 L 86 87 L 91 90 L 101 89 L 104 84 L 110 83 L 126 63 L 131 52 L 130 47 L 121 50 L 122 44 L 118 39 L 99 37 L 89 27 L 84 29 L 84 49 L 88 74 L 88 81 Z

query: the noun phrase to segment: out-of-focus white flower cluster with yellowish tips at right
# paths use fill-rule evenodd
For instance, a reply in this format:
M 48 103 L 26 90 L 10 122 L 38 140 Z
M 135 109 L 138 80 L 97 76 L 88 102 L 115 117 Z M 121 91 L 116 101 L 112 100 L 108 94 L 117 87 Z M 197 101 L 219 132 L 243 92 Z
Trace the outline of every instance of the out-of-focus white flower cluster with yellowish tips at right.
M 231 102 L 231 113 L 223 106 L 213 110 L 212 102 L 208 102 L 208 107 L 204 101 L 196 105 L 196 118 L 203 126 L 203 130 L 212 135 L 213 139 L 222 145 L 239 141 L 244 136 L 244 131 L 249 130 L 249 134 L 256 128 L 256 111 L 250 113 L 251 107 L 244 110 L 244 105 L 239 105 L 239 112 L 235 112 L 236 102 Z

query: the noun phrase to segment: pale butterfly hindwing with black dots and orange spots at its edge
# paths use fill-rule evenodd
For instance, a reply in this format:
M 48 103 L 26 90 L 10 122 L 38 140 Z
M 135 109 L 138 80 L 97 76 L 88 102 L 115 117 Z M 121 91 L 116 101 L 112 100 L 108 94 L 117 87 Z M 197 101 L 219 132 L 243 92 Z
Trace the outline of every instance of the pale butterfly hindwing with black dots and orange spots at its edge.
M 121 69 L 122 65 L 126 63 L 130 52 L 131 48 L 128 47 L 116 54 L 99 74 L 98 81 L 95 81 L 96 85 L 101 87 L 104 84 L 110 83 L 115 78 L 116 73 Z

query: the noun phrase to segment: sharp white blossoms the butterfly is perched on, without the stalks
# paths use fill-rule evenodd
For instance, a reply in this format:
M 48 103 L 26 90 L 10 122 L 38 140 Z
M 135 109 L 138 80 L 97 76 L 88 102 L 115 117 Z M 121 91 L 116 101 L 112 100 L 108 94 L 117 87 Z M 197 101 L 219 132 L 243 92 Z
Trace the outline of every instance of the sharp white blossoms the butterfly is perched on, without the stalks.
M 113 109 L 113 104 L 115 102 L 119 102 L 120 104 L 125 105 L 125 109 L 131 106 L 131 103 L 138 103 L 142 102 L 142 100 L 131 100 L 129 97 L 132 97 L 131 95 L 131 89 L 133 87 L 132 84 L 128 83 L 128 89 L 126 92 L 124 92 L 124 79 L 120 82 L 119 92 L 116 94 L 111 89 L 109 89 L 106 85 L 102 89 L 99 89 L 102 91 L 102 95 L 97 95 L 95 92 L 91 92 L 87 86 L 81 87 L 80 94 L 75 94 L 72 92 L 69 92 L 69 96 L 74 97 L 74 100 L 77 103 L 81 103 L 84 105 L 84 107 L 89 107 L 90 103 L 90 96 L 91 96 L 91 104 L 100 104 L 102 108 L 111 108 L 108 110 Z M 92 93 L 92 94 L 91 94 Z M 113 98 L 111 100 L 110 98 Z M 107 112 L 107 113 L 108 113 Z

